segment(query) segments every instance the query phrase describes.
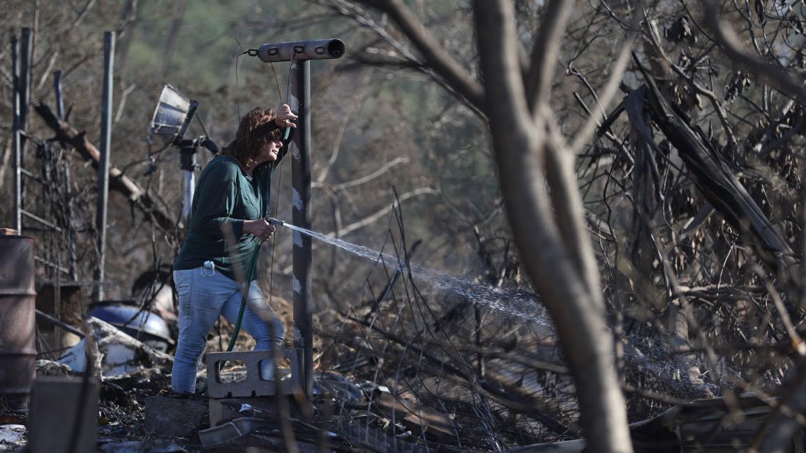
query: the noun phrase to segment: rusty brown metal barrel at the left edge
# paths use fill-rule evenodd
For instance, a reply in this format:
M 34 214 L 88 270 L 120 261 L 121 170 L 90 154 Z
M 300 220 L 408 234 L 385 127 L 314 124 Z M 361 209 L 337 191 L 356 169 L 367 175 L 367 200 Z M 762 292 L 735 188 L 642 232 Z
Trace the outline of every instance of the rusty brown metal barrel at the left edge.
M 0 410 L 27 406 L 36 373 L 34 238 L 0 236 Z

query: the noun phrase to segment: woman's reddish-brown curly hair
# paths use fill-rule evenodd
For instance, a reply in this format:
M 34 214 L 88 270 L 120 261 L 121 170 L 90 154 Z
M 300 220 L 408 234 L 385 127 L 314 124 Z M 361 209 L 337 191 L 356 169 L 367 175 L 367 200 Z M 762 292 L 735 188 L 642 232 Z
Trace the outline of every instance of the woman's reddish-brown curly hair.
M 282 131 L 274 123 L 274 118 L 273 109 L 256 108 L 243 115 L 235 140 L 225 146 L 221 154 L 232 156 L 241 163 L 254 159 L 262 146 L 280 139 Z

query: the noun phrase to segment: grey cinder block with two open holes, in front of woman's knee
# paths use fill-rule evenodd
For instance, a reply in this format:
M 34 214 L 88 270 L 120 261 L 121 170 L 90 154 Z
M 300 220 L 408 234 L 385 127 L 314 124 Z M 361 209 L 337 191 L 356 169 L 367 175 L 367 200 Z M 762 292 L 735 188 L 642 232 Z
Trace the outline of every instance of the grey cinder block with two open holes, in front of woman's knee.
M 260 377 L 260 362 L 272 358 L 272 352 L 208 352 L 207 353 L 207 393 L 211 398 L 232 397 L 270 397 L 272 395 L 290 395 L 301 392 L 302 349 L 280 349 L 278 356 L 289 360 L 289 375 L 285 370 L 275 370 L 280 381 L 269 381 Z M 218 373 L 218 364 L 222 361 L 239 360 L 246 364 L 246 376 L 239 381 L 222 382 Z

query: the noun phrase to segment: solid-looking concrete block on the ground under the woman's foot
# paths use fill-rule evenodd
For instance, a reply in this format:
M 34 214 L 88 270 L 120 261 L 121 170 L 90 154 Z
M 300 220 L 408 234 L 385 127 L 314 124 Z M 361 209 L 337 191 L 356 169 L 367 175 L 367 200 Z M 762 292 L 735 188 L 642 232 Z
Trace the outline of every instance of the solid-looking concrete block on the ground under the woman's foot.
M 207 402 L 157 395 L 146 398 L 143 430 L 158 437 L 191 437 L 208 427 Z

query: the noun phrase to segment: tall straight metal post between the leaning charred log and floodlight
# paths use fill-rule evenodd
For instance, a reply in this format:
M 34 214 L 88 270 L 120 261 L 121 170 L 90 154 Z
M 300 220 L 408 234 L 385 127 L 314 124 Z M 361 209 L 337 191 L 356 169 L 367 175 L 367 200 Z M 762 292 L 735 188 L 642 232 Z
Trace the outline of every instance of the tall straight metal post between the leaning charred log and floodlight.
M 106 202 L 109 199 L 109 154 L 112 144 L 112 70 L 114 68 L 114 31 L 103 35 L 103 101 L 101 104 L 101 159 L 98 162 L 98 269 L 95 271 L 94 296 L 104 299 L 104 264 L 106 261 Z

